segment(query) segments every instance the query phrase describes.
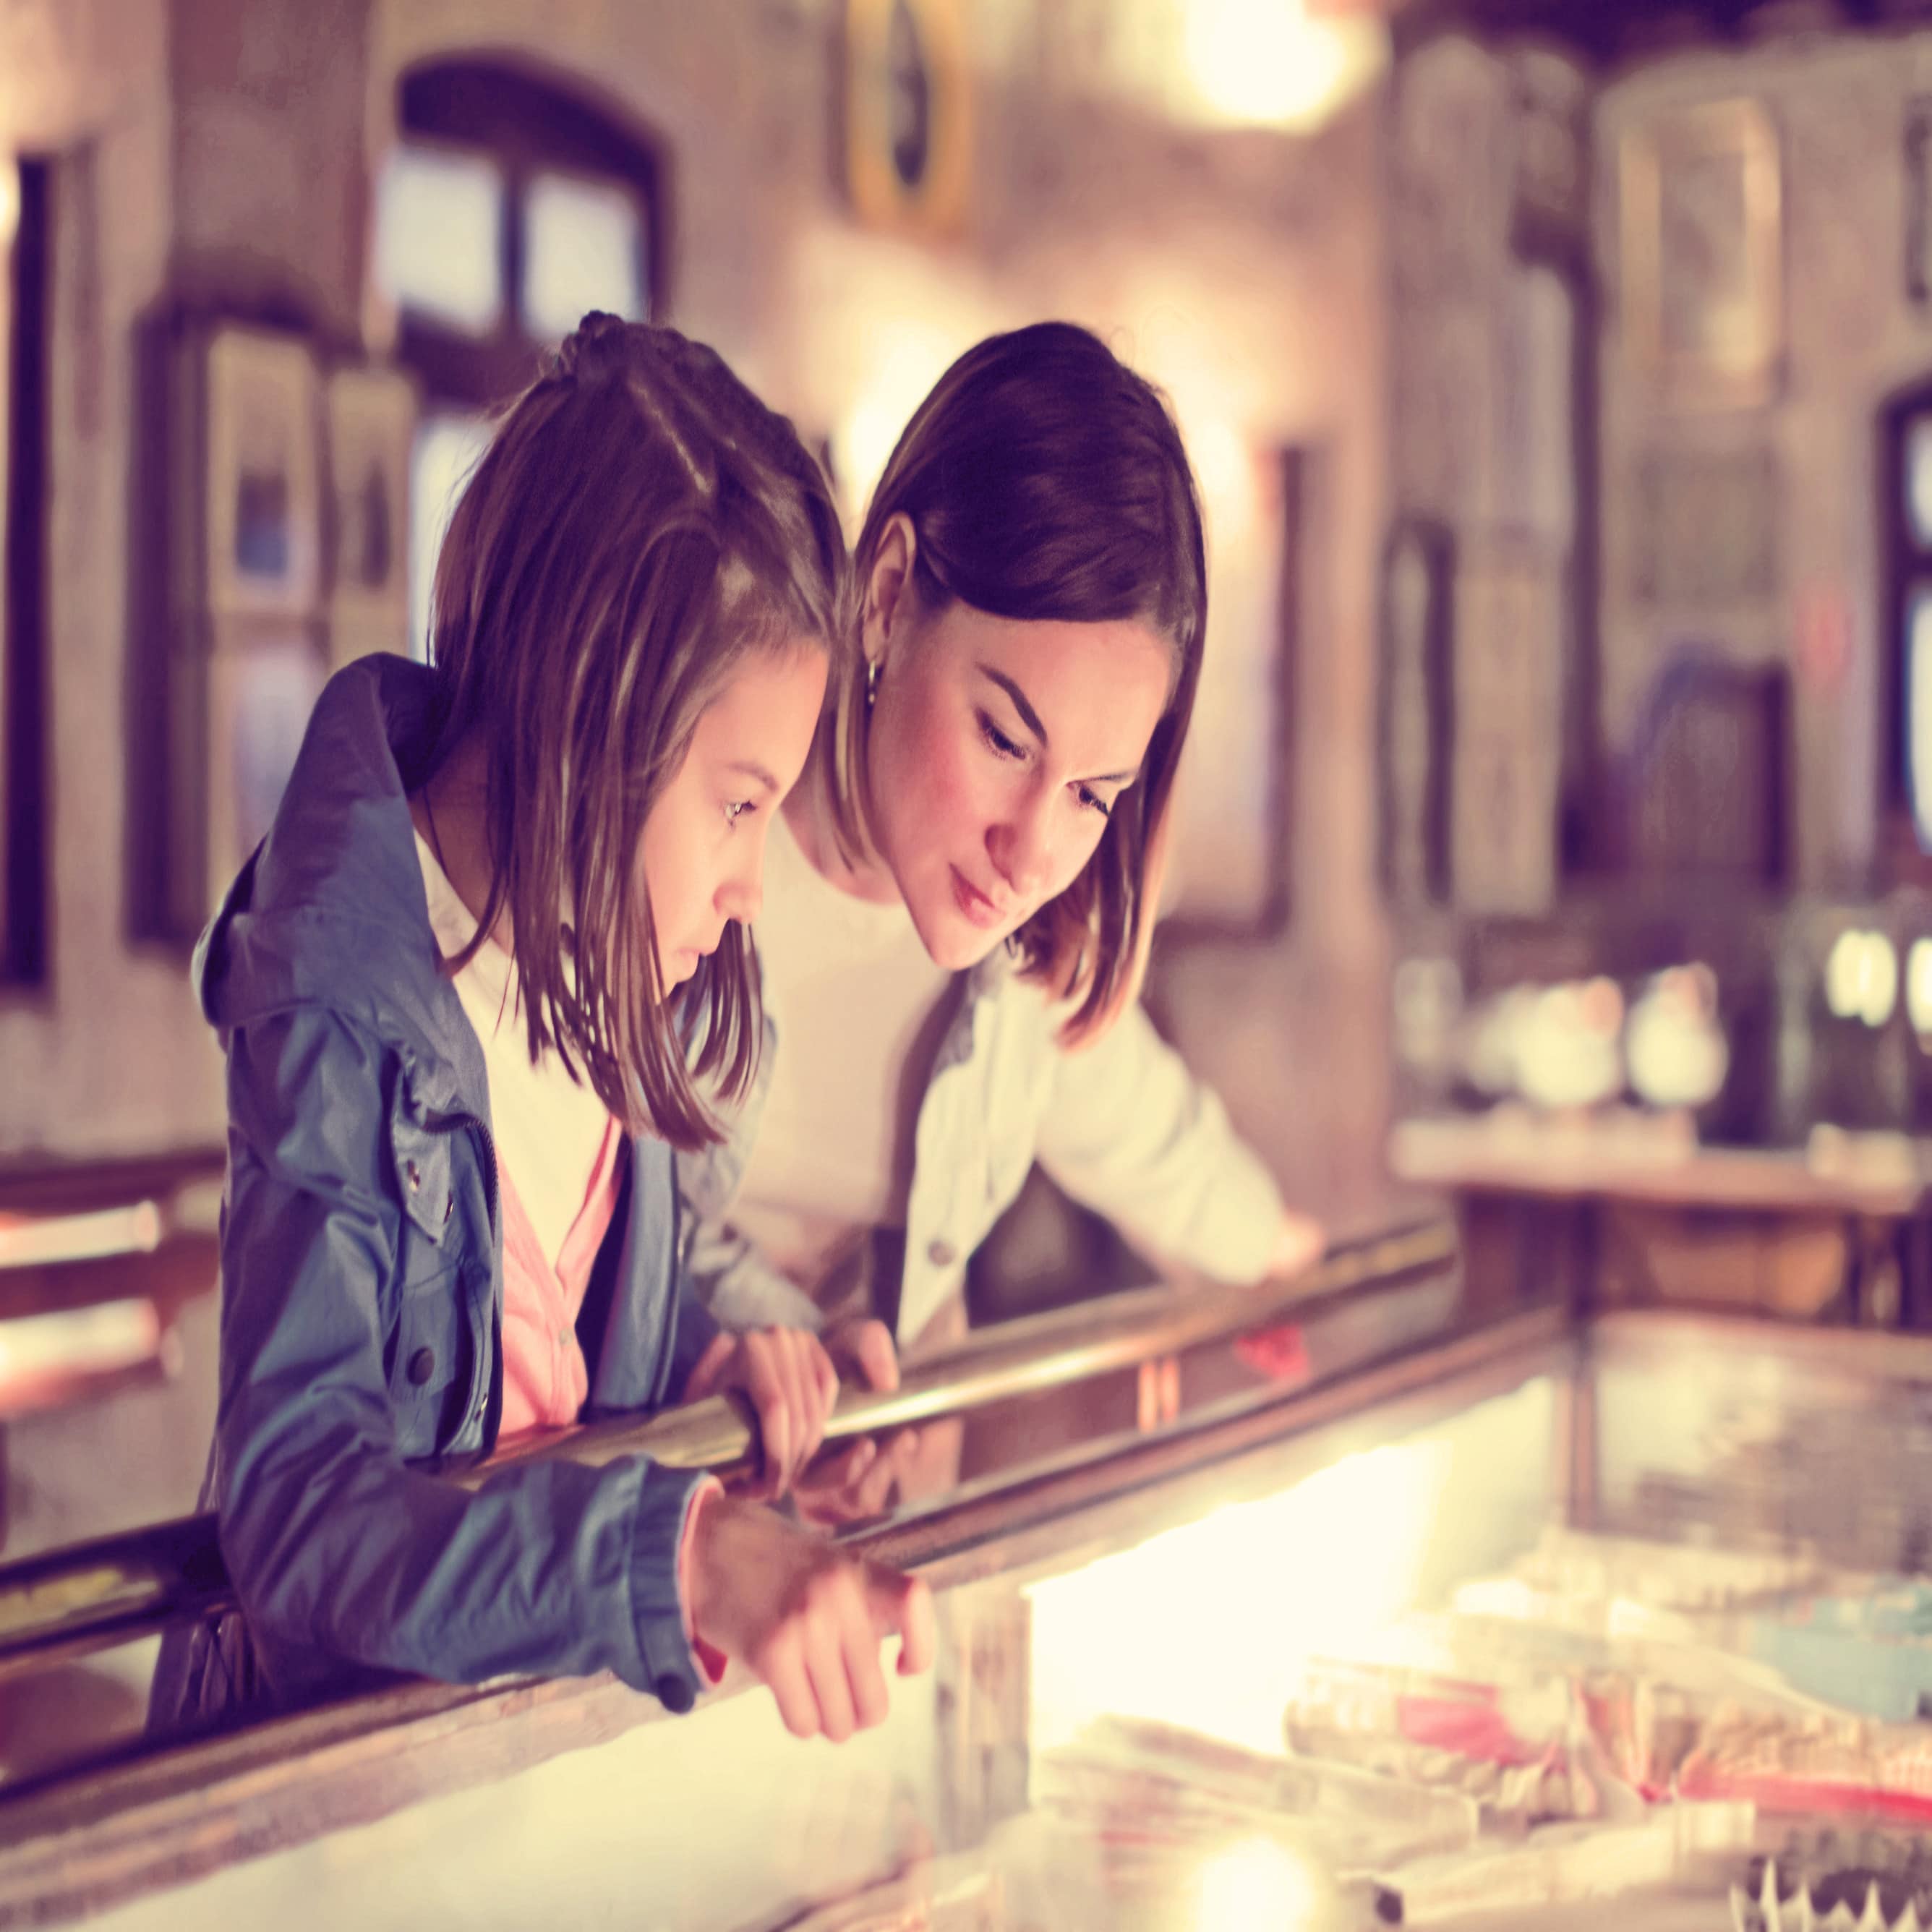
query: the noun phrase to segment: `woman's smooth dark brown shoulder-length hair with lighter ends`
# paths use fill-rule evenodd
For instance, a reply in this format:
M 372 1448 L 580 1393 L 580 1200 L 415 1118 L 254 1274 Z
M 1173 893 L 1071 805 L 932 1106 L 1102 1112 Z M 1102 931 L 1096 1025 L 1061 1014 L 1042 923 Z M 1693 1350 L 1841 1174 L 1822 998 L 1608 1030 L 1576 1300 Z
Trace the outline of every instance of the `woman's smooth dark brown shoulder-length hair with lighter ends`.
M 1010 945 L 1026 978 L 1074 1003 L 1066 1045 L 1095 1037 L 1140 991 L 1208 628 L 1200 497 L 1161 392 L 1097 336 L 1036 323 L 989 336 L 906 425 L 854 553 L 860 587 L 891 518 L 912 520 L 922 614 L 954 599 L 1003 618 L 1138 620 L 1173 653 L 1169 701 L 1094 858 Z M 858 653 L 835 667 L 835 823 L 866 844 L 866 697 Z

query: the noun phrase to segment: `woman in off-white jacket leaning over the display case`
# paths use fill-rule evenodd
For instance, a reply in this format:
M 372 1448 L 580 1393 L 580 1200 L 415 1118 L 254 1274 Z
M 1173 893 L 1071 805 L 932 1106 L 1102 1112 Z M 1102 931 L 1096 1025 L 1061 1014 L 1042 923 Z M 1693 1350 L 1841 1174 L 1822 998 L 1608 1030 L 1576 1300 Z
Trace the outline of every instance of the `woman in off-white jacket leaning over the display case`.
M 856 553 L 858 663 L 773 831 L 759 1090 L 680 1157 L 728 1327 L 817 1323 L 891 1383 L 964 1329 L 1037 1157 L 1165 1262 L 1320 1254 L 1138 1005 L 1208 614 L 1159 394 L 1084 328 L 962 355 Z M 862 1445 L 840 1470 L 877 1501 Z

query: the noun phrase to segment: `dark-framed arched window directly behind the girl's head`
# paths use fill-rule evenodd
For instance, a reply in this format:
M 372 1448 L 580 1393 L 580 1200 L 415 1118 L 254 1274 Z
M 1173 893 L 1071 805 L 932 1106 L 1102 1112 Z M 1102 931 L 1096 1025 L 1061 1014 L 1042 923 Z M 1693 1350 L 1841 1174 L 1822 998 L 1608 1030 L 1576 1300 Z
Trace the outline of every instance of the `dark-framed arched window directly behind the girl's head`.
M 375 276 L 423 392 L 410 466 L 410 641 L 489 412 L 589 309 L 665 311 L 663 160 L 585 91 L 524 68 L 439 60 L 398 83 L 377 184 Z

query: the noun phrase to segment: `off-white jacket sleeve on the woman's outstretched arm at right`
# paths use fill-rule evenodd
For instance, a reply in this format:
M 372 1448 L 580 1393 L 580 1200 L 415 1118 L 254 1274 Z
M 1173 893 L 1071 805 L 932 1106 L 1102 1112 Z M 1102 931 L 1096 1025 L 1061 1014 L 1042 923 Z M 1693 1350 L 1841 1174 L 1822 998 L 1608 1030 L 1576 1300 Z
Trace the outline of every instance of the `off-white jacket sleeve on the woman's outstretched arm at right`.
M 1151 1256 L 1258 1281 L 1283 1204 L 1211 1088 L 1136 1001 L 1088 1047 L 1053 1051 L 1039 1165 Z

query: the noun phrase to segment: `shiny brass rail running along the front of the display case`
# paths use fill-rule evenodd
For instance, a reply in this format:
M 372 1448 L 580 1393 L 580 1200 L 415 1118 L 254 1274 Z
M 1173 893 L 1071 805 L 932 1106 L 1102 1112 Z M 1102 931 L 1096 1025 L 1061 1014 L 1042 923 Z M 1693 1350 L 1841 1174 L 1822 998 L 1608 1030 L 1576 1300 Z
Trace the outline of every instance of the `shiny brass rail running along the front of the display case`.
M 966 1414 L 1113 1370 L 1227 1341 L 1281 1321 L 1393 1293 L 1457 1260 L 1449 1221 L 1424 1221 L 1337 1244 L 1314 1269 L 1262 1289 L 1140 1289 L 981 1329 L 910 1370 L 889 1393 L 846 1389 L 827 1447 L 854 1435 Z M 566 1459 L 601 1466 L 647 1455 L 670 1468 L 730 1474 L 757 1451 L 757 1426 L 734 1395 L 643 1420 L 593 1422 L 518 1437 L 489 1461 L 440 1474 L 466 1488 L 522 1463 Z M 0 1681 L 114 1644 L 153 1636 L 182 1617 L 234 1604 L 213 1515 L 182 1517 L 122 1536 L 0 1565 Z

